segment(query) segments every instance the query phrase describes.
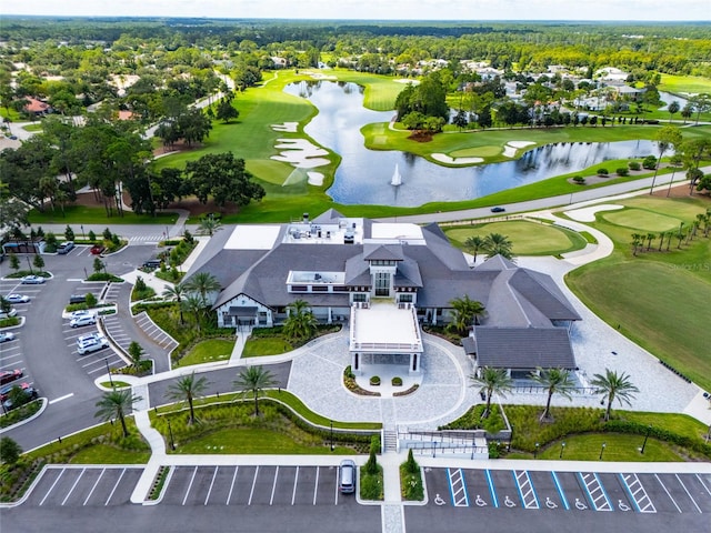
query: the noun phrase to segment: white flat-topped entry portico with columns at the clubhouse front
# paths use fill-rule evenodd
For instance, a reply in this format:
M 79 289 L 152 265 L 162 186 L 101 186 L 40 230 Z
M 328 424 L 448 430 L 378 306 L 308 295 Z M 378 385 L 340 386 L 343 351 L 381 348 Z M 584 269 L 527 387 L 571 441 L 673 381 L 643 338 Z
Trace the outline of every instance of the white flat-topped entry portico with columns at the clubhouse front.
M 422 352 L 414 305 L 371 301 L 351 308 L 350 354 L 356 375 L 373 364 L 401 365 L 408 375 L 420 374 Z

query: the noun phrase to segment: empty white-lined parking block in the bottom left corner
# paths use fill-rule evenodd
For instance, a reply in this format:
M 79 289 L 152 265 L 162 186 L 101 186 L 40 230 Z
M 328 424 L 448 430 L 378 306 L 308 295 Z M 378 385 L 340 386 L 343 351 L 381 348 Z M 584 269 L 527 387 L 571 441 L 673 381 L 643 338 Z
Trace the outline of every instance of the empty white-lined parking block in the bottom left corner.
M 48 466 L 24 505 L 107 506 L 129 503 L 140 466 Z

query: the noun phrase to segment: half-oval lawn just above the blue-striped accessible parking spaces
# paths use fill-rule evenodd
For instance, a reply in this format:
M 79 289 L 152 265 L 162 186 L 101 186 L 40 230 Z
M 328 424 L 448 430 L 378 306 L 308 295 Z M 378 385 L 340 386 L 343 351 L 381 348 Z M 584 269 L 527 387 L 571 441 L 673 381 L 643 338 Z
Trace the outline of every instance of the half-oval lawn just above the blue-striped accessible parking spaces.
M 649 439 L 644 446 L 644 454 L 639 449 L 644 442 L 640 435 L 620 435 L 610 433 L 589 433 L 584 435 L 570 435 L 563 441 L 553 442 L 541 449 L 539 459 L 560 459 L 561 443 L 565 442 L 563 460 L 567 461 L 599 461 L 602 443 L 605 443 L 602 453 L 603 461 L 630 461 L 630 462 L 679 462 L 683 461 L 674 453 L 671 446 L 655 439 Z

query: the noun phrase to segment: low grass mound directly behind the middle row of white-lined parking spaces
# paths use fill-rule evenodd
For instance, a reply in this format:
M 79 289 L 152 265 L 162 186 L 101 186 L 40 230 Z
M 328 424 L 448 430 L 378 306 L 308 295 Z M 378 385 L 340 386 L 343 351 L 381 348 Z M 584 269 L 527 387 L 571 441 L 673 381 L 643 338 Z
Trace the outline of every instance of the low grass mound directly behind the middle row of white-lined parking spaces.
M 176 453 L 239 453 L 274 455 L 320 455 L 331 453 L 330 447 L 308 446 L 294 442 L 288 435 L 260 428 L 228 428 L 218 430 L 194 441 L 180 444 Z M 337 446 L 336 455 L 353 453 L 350 447 Z

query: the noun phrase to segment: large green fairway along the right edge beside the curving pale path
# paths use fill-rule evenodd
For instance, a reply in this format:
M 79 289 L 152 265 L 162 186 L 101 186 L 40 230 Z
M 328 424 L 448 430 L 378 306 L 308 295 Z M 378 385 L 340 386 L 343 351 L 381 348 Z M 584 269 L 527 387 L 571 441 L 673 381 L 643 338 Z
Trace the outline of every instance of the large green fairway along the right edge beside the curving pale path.
M 663 223 L 672 218 L 688 224 L 711 207 L 701 198 L 637 198 L 618 203 L 645 210 L 647 215 L 637 220 L 647 224 L 650 213 L 659 213 Z M 571 272 L 569 285 L 609 324 L 621 324 L 621 331 L 634 342 L 711 389 L 711 240 L 698 237 L 677 250 L 673 239 L 671 250 L 661 253 L 655 251 L 659 240 L 653 240 L 652 251 L 634 258 L 629 242 L 637 229 L 611 223 L 610 213 L 599 213 L 593 225 L 613 239 L 615 251 Z M 612 220 L 619 220 L 618 213 Z M 633 223 L 634 212 L 622 220 Z

